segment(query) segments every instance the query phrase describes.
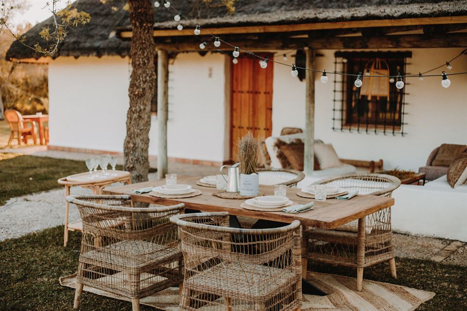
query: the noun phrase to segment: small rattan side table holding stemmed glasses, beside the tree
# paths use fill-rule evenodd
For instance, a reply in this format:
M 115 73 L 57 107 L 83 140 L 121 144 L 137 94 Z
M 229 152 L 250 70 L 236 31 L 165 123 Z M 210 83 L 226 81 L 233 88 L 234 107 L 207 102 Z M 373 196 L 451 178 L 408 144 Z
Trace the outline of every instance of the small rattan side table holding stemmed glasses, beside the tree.
M 70 188 L 73 186 L 80 186 L 82 188 L 91 189 L 94 194 L 102 194 L 102 189 L 105 187 L 121 182 L 124 184 L 131 184 L 131 175 L 126 171 L 108 171 L 109 175 L 104 175 L 102 171 L 90 173 L 79 173 L 62 177 L 58 179 L 59 185 L 65 186 L 65 198 L 70 195 Z M 93 177 L 93 179 L 91 179 Z M 63 235 L 63 246 L 67 246 L 68 231 L 83 231 L 83 223 L 81 220 L 68 222 L 68 214 L 70 205 L 65 200 L 65 232 Z

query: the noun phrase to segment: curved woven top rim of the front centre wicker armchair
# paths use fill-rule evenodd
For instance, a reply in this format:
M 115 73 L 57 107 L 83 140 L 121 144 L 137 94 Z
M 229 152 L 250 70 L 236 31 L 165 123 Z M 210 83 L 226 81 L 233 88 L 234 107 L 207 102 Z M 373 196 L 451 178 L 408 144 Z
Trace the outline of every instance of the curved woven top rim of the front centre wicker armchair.
M 229 216 L 228 212 L 217 212 L 217 213 L 190 213 L 190 214 L 179 214 L 170 217 L 170 221 L 175 223 L 179 226 L 183 227 L 190 227 L 195 229 L 201 230 L 209 230 L 209 231 L 216 231 L 222 233 L 231 233 L 231 234 L 274 234 L 274 233 L 282 233 L 294 230 L 300 227 L 300 222 L 298 220 L 294 220 L 291 224 L 285 225 L 283 227 L 278 228 L 267 228 L 267 229 L 244 229 L 244 228 L 232 228 L 232 227 L 223 227 L 223 226 L 216 226 L 216 225 L 205 225 L 205 224 L 197 224 L 184 221 L 185 218 L 191 217 L 227 217 Z

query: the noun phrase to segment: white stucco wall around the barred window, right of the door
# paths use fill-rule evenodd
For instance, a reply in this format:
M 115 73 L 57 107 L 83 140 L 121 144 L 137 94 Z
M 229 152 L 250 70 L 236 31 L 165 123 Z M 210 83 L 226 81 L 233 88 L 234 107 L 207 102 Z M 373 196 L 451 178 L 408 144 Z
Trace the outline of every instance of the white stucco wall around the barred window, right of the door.
M 451 59 L 462 49 L 413 49 L 408 59 L 407 72 L 431 69 Z M 323 54 L 315 61 L 316 69 L 334 69 L 335 51 L 316 51 Z M 279 54 L 281 55 L 281 54 Z M 282 61 L 282 57 L 281 57 Z M 288 63 L 292 63 L 289 57 Z M 467 56 L 452 64 L 450 72 L 467 71 Z M 433 73 L 441 73 L 439 69 Z M 449 74 L 448 71 L 448 74 Z M 431 150 L 442 143 L 467 144 L 467 75 L 449 76 L 451 86 L 441 86 L 438 77 L 424 81 L 412 78 L 406 81 L 404 132 L 407 135 L 384 136 L 340 132 L 332 130 L 333 75 L 326 84 L 315 82 L 315 138 L 332 143 L 338 155 L 349 159 L 377 160 L 382 158 L 387 169 L 418 170 L 424 166 Z M 305 126 L 305 81 L 290 75 L 290 68 L 275 66 L 272 104 L 272 131 L 279 135 L 285 126 Z

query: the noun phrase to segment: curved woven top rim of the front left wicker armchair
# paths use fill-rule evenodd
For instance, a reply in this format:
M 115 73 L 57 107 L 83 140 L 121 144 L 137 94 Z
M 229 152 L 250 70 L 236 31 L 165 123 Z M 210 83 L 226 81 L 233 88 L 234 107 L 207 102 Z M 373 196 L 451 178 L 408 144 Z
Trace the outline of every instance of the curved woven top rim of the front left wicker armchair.
M 120 206 L 109 206 L 103 204 L 92 203 L 89 201 L 84 201 L 82 199 L 96 199 L 96 200 L 122 200 L 130 201 L 131 196 L 127 194 L 123 195 L 69 195 L 67 196 L 67 201 L 72 204 L 85 206 L 85 207 L 94 207 L 101 210 L 108 211 L 121 211 L 121 212 L 130 212 L 130 213 L 156 213 L 156 212 L 167 212 L 172 210 L 184 210 L 185 205 L 183 203 L 164 206 L 164 207 L 120 207 Z

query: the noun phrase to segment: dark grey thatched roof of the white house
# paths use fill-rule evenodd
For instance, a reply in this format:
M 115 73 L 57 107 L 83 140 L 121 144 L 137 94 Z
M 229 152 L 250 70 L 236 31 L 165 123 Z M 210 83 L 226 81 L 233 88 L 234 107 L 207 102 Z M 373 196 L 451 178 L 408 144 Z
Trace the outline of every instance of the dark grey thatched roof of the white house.
M 131 29 L 128 12 L 121 9 L 126 0 L 108 3 L 79 0 L 77 8 L 90 14 L 90 23 L 71 29 L 54 57 L 128 55 L 130 43 L 115 36 L 115 31 Z M 196 24 L 223 27 L 467 15 L 467 0 L 236 0 L 233 15 L 229 15 L 223 7 L 208 8 L 200 0 L 171 0 L 171 3 L 172 8 L 181 10 L 185 27 Z M 114 12 L 112 6 L 120 9 Z M 173 9 L 165 9 L 161 5 L 154 9 L 154 14 L 156 29 L 174 29 L 178 24 L 173 20 Z M 39 32 L 44 26 L 52 25 L 52 21 L 51 17 L 30 29 L 25 34 L 26 43 L 34 45 L 42 42 Z M 40 56 L 17 41 L 13 42 L 6 54 L 7 59 L 38 59 Z

